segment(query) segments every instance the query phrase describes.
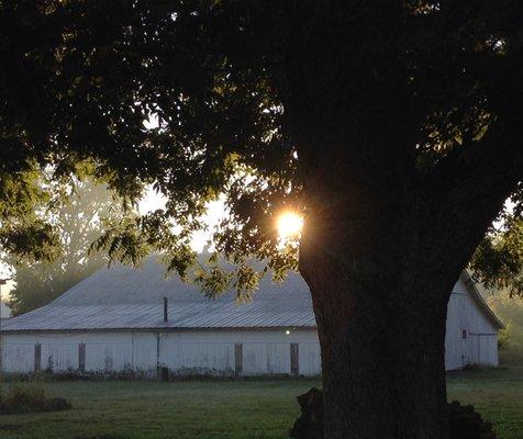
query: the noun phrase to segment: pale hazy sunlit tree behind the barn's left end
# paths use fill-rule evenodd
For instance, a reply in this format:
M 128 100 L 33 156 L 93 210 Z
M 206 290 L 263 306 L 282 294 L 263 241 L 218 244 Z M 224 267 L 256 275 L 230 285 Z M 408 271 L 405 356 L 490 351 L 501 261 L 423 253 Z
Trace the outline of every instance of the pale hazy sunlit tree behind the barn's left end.
M 51 216 L 59 233 L 60 252 L 53 260 L 25 260 L 14 255 L 8 262 L 14 270 L 16 285 L 10 293 L 14 315 L 48 304 L 69 288 L 108 263 L 90 246 L 103 232 L 103 223 L 120 219 L 122 210 L 102 184 L 78 181 L 70 188 L 65 203 L 51 212 L 43 206 L 41 216 Z

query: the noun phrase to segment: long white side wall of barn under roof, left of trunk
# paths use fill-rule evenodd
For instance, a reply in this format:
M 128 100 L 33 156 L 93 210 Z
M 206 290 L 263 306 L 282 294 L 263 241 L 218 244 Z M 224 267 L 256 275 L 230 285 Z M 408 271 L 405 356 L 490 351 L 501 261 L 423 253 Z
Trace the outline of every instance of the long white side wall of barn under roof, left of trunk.
M 193 330 L 3 334 L 1 364 L 4 372 L 32 372 L 35 345 L 41 370 L 54 372 L 79 368 L 79 345 L 85 345 L 85 370 L 134 370 L 155 374 L 167 367 L 176 374 L 291 373 L 291 344 L 298 345 L 298 373 L 321 371 L 315 330 Z M 236 346 L 241 344 L 241 369 Z

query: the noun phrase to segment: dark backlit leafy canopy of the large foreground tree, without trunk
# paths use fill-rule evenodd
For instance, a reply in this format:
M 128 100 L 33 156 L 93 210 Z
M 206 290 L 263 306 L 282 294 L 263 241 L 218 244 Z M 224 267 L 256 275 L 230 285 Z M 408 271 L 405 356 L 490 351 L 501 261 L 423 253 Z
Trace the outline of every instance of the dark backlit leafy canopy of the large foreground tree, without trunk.
M 111 257 L 157 249 L 183 273 L 205 203 L 224 194 L 216 249 L 241 266 L 252 255 L 296 268 L 275 216 L 332 202 L 303 192 L 305 169 L 335 162 L 342 138 L 356 171 L 377 169 L 371 191 L 418 181 L 443 192 L 510 160 L 507 233 L 521 239 L 521 4 L 377 3 L 2 1 L 2 248 L 49 255 L 56 236 L 34 205 L 47 196 L 35 172 L 52 169 L 90 173 L 129 203 L 146 184 L 167 196 L 165 210 L 108 228 Z M 507 246 L 478 250 L 487 283 L 521 267 Z

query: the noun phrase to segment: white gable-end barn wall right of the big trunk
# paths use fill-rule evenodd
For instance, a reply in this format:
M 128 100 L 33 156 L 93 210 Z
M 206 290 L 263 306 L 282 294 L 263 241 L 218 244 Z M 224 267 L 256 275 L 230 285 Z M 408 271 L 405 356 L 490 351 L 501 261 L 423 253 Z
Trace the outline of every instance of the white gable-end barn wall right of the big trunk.
M 445 368 L 467 364 L 498 365 L 498 330 L 460 279 L 447 306 Z

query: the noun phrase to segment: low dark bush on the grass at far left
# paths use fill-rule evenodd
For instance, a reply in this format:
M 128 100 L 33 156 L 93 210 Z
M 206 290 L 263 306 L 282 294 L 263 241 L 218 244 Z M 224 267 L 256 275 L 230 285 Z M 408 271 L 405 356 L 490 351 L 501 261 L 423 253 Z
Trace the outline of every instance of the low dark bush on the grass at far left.
M 48 397 L 36 382 L 15 383 L 0 394 L 0 414 L 56 412 L 70 408 L 64 398 Z

